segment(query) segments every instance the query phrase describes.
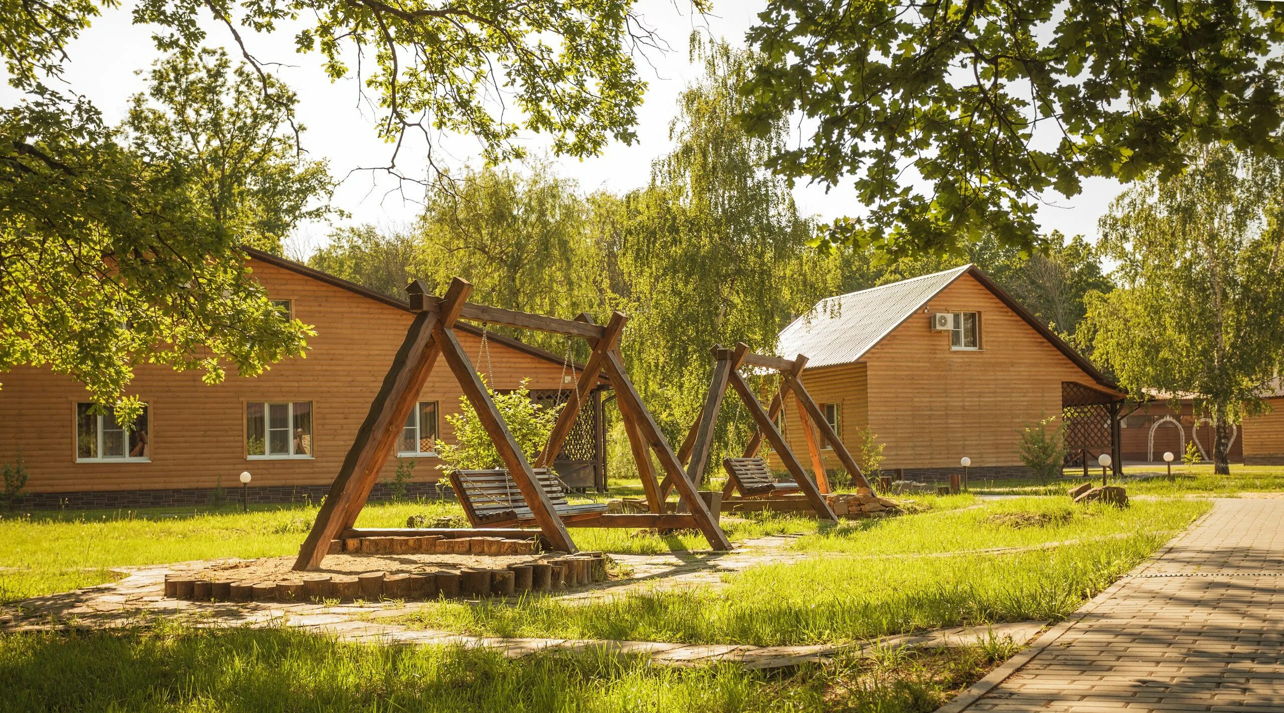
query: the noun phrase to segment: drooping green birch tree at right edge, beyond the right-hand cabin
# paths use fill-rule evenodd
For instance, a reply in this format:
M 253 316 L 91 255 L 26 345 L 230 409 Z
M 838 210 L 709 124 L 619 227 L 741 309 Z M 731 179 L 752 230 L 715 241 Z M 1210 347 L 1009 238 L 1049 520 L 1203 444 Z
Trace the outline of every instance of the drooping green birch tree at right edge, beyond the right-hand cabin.
M 1284 367 L 1281 164 L 1216 144 L 1193 155 L 1102 218 L 1120 289 L 1089 295 L 1081 330 L 1134 395 L 1193 396 L 1213 424 L 1215 471 L 1229 473 L 1231 426 Z

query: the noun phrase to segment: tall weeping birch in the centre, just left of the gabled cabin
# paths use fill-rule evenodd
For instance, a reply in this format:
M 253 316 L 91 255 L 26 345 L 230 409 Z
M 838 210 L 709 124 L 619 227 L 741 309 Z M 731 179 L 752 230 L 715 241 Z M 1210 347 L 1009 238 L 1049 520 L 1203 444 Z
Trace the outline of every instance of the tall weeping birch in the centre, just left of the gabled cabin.
M 745 341 L 770 353 L 787 319 L 824 292 L 811 221 L 764 168 L 786 123 L 750 136 L 734 121 L 745 110 L 737 87 L 758 58 L 720 42 L 693 42 L 692 53 L 705 74 L 678 99 L 674 150 L 654 163 L 646 189 L 625 196 L 615 255 L 632 315 L 624 348 L 673 433 L 700 409 L 710 346 Z

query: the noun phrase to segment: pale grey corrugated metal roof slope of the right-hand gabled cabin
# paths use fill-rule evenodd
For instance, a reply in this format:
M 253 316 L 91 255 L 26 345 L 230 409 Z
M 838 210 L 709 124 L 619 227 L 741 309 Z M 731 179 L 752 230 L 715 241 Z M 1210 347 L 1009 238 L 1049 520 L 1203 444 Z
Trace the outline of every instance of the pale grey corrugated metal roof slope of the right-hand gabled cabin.
M 850 364 L 972 265 L 826 298 L 781 331 L 776 353 L 808 367 Z

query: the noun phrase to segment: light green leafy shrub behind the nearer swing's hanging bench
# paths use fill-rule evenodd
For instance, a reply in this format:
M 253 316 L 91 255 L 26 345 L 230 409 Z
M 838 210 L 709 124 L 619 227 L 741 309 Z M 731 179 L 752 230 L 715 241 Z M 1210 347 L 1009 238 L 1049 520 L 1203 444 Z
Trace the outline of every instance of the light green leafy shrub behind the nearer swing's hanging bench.
M 533 460 L 548 442 L 561 407 L 547 409 L 532 401 L 528 381 L 521 380 L 521 386 L 508 394 L 496 394 L 490 391 L 490 385 L 487 385 L 487 391 L 521 453 Z M 437 455 L 442 459 L 439 468 L 473 471 L 503 467 L 490 435 L 482 427 L 482 419 L 467 398 L 460 396 L 460 413 L 447 415 L 446 422 L 455 428 L 455 442 L 437 441 Z

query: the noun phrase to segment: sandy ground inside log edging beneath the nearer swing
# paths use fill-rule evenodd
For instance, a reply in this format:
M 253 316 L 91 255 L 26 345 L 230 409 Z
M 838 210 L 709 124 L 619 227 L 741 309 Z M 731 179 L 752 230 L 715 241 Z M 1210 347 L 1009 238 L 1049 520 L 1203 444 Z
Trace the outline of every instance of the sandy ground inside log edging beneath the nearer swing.
M 523 564 L 528 562 L 542 562 L 562 555 L 490 555 L 490 554 L 331 554 L 321 560 L 321 568 L 309 575 L 361 575 L 365 572 L 412 573 L 431 569 L 505 569 L 510 564 Z M 243 580 L 275 581 L 286 580 L 291 576 L 302 576 L 295 572 L 294 557 L 270 557 L 265 559 L 248 559 L 244 562 L 227 562 L 216 564 L 207 569 L 194 572 L 191 576 L 198 580 L 225 580 L 229 576 Z

